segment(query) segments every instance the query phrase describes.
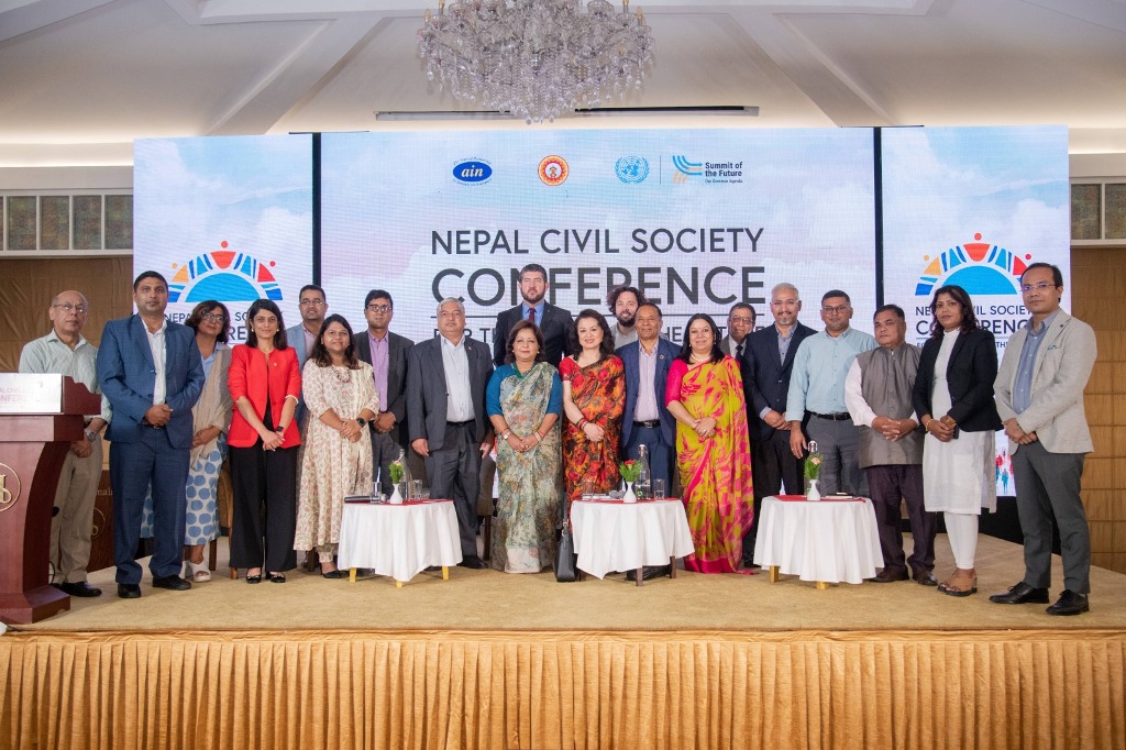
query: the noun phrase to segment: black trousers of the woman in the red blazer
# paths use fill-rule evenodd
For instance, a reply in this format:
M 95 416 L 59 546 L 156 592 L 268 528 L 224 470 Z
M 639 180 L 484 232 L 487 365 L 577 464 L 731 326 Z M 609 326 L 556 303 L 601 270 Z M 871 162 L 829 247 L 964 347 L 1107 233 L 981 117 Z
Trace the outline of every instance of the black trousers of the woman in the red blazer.
M 231 566 L 271 573 L 295 568 L 297 447 L 262 450 L 258 440 L 249 448 L 232 447 L 230 456 Z

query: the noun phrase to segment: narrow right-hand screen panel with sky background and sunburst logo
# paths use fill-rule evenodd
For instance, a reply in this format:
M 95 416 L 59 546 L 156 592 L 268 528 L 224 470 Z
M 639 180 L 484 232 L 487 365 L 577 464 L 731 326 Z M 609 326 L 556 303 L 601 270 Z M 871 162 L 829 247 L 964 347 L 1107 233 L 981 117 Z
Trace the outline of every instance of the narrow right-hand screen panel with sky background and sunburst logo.
M 1063 269 L 1071 309 L 1065 127 L 896 128 L 882 140 L 884 298 L 906 312 L 908 340 L 926 341 L 935 291 L 956 284 L 1003 357 L 1028 323 L 1019 287 L 1033 262 Z M 1003 432 L 997 480 L 999 494 L 1013 494 Z

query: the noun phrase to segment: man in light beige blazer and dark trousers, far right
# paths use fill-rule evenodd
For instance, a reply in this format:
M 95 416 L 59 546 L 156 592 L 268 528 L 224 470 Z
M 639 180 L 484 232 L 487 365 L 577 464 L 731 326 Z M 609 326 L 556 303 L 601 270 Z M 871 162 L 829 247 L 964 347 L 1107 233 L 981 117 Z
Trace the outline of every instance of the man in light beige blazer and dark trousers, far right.
M 1025 578 L 990 600 L 1048 601 L 1055 518 L 1064 591 L 1047 613 L 1079 615 L 1090 609 L 1091 590 L 1091 534 L 1080 480 L 1085 455 L 1094 447 L 1083 413 L 1083 389 L 1097 355 L 1094 331 L 1060 309 L 1063 274 L 1055 266 L 1030 265 L 1020 289 L 1033 318 L 1009 339 L 994 392 L 1017 482 Z

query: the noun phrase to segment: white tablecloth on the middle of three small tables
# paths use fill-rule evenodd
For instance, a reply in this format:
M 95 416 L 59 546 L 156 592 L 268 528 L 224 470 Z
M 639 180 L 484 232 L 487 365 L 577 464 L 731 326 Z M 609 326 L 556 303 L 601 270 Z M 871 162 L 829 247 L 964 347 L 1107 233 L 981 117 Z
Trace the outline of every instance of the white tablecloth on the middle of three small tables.
M 611 571 L 668 565 L 696 551 L 680 500 L 575 500 L 571 528 L 579 570 L 602 578 Z

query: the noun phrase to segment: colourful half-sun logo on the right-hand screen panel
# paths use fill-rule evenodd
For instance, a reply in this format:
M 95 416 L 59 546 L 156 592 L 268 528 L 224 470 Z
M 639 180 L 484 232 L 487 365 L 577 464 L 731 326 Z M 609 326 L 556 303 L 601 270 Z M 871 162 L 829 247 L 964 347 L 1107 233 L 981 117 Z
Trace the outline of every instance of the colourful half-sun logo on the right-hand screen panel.
M 977 295 L 1007 296 L 1020 291 L 1020 276 L 1031 260 L 1024 260 L 1011 250 L 981 241 L 981 233 L 974 234 L 973 242 L 955 245 L 931 258 L 919 276 L 915 296 L 929 296 L 938 286 L 956 284 L 971 297 Z

